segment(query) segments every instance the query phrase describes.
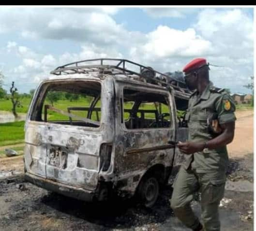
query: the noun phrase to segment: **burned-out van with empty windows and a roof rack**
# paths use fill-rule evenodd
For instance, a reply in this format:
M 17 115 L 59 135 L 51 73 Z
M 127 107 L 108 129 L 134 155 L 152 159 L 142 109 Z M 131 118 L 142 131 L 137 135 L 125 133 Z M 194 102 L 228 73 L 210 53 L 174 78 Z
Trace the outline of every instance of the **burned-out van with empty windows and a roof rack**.
M 179 162 L 170 141 L 186 139 L 177 110 L 186 109 L 190 94 L 143 68 L 93 59 L 52 71 L 27 115 L 25 179 L 84 201 L 136 194 L 152 206 Z

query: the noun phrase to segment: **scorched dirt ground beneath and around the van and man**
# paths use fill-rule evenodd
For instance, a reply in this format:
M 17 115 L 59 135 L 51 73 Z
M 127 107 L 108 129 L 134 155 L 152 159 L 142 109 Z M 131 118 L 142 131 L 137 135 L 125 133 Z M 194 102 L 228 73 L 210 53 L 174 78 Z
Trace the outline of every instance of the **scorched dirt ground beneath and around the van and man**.
M 252 231 L 253 111 L 239 111 L 236 116 L 220 217 L 222 231 Z M 81 202 L 26 183 L 22 175 L 12 179 L 22 171 L 22 156 L 0 159 L 1 231 L 188 231 L 170 208 L 171 186 L 163 188 L 153 208 L 145 209 L 133 199 Z M 200 200 L 200 196 L 196 198 Z M 192 206 L 200 216 L 198 202 Z

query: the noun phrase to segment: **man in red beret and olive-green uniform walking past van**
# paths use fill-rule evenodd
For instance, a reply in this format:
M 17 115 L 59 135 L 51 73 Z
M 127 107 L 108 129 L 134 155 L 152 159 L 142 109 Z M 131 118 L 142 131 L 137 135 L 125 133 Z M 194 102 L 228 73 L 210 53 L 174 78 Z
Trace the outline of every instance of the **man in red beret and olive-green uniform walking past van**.
M 228 156 L 226 144 L 235 130 L 235 104 L 222 89 L 209 81 L 209 64 L 196 58 L 183 69 L 191 95 L 186 114 L 187 142 L 177 145 L 186 161 L 173 185 L 171 207 L 181 222 L 193 231 L 220 231 L 218 207 L 224 196 Z M 202 222 L 193 213 L 190 202 L 201 192 Z

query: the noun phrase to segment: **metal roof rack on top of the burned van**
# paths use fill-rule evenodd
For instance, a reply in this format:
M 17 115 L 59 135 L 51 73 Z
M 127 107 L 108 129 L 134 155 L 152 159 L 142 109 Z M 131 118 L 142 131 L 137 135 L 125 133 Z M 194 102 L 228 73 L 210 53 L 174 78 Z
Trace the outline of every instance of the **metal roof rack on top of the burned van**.
M 129 69 L 127 68 L 129 66 Z M 148 76 L 143 74 L 144 71 L 153 72 L 154 76 Z M 188 89 L 181 88 L 179 86 L 168 83 L 167 80 L 170 76 L 152 70 L 150 67 L 143 66 L 136 62 L 127 59 L 118 58 L 96 58 L 87 59 L 77 62 L 72 62 L 65 64 L 63 66 L 57 67 L 55 70 L 51 71 L 51 74 L 55 75 L 65 75 L 65 74 L 75 74 L 75 73 L 110 73 L 112 75 L 125 75 L 130 78 L 137 77 L 139 80 L 145 80 L 147 83 L 160 85 L 162 87 L 171 86 L 175 89 L 175 96 L 188 100 L 191 92 Z

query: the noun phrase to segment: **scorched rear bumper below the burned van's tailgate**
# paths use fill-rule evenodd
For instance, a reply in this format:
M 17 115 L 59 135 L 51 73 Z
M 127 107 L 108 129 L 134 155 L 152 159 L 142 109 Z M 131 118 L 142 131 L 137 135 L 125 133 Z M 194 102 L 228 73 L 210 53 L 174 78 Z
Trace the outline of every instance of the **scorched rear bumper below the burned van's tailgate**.
M 36 176 L 30 173 L 25 173 L 25 180 L 50 191 L 60 193 L 64 196 L 73 197 L 78 200 L 91 202 L 94 198 L 94 191 L 85 190 L 83 188 L 77 188 L 73 186 L 67 186 L 59 182 L 55 182 L 40 176 Z

